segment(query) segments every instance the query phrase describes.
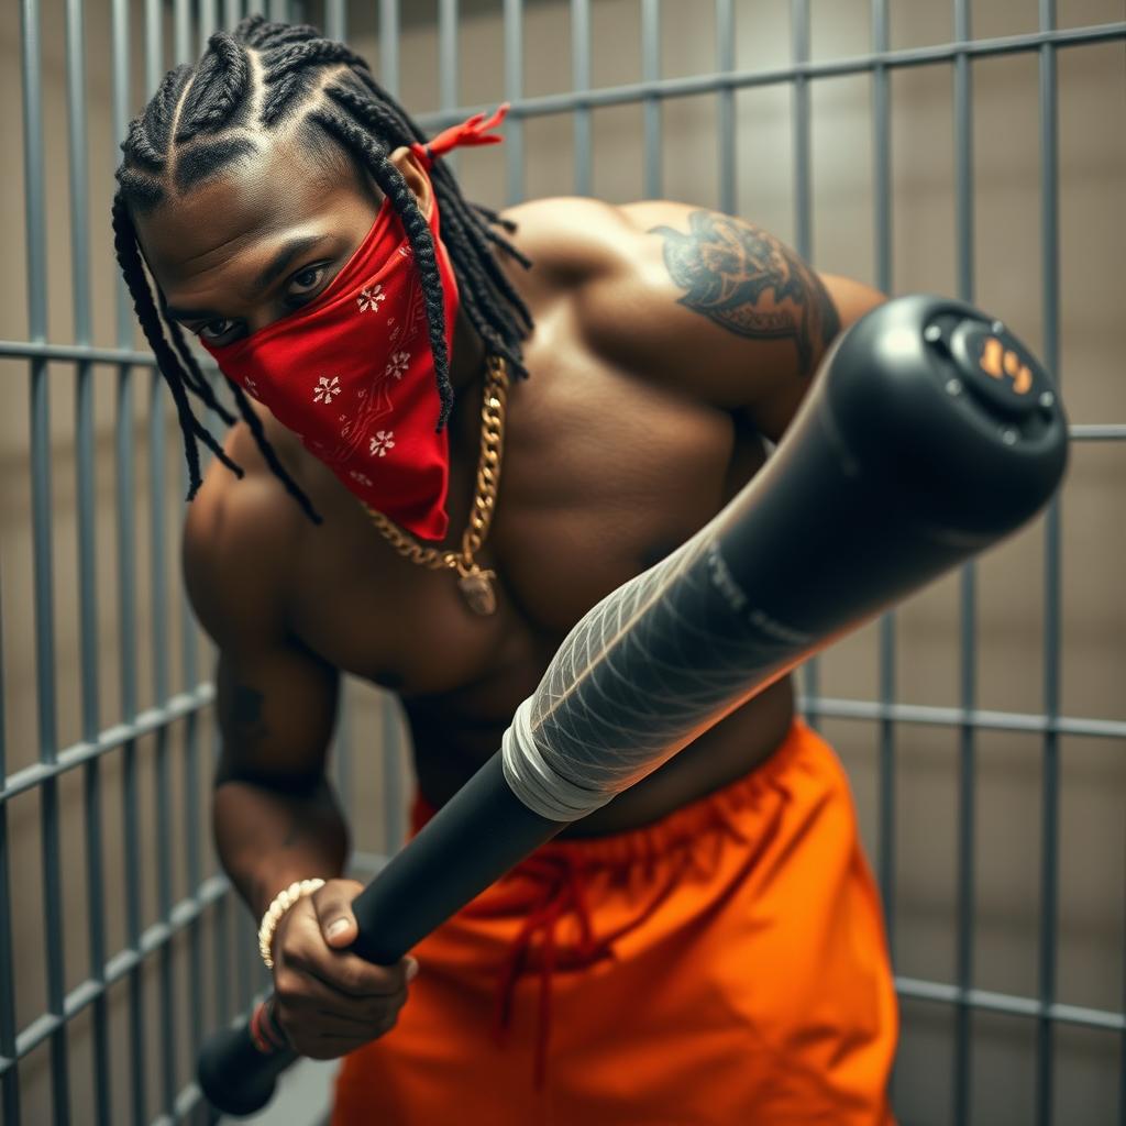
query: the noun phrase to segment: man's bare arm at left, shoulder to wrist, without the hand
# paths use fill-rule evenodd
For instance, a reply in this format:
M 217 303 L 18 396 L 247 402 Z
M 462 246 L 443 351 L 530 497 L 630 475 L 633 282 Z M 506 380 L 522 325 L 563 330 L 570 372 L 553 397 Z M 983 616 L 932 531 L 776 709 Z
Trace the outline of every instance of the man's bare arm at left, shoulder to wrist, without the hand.
M 215 840 L 260 917 L 295 879 L 328 879 L 345 864 L 347 830 L 324 777 L 338 676 L 286 636 L 270 573 L 285 555 L 251 542 L 253 521 L 231 491 L 205 488 L 194 502 L 184 570 L 196 615 L 220 650 Z

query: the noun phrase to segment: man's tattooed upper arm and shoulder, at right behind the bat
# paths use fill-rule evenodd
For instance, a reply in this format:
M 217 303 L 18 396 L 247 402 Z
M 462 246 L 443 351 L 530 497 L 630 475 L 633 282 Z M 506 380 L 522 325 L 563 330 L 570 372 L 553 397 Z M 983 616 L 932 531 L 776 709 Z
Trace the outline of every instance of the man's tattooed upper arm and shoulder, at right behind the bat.
M 608 211 L 609 251 L 579 296 L 589 339 L 772 441 L 832 340 L 885 300 L 742 218 L 661 200 Z

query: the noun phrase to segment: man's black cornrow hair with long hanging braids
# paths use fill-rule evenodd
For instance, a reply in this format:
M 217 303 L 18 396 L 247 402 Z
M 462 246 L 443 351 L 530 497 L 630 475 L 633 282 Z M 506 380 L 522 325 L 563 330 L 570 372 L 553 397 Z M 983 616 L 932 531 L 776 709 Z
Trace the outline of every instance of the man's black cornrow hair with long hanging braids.
M 422 285 L 441 400 L 438 429 L 449 420 L 453 409 L 434 236 L 413 193 L 388 159 L 401 145 L 425 144 L 427 138 L 375 81 L 367 63 L 345 44 L 324 38 L 306 24 L 271 24 L 251 16 L 231 34 L 216 32 L 195 66 L 177 66 L 164 75 L 144 111 L 129 123 L 122 143 L 125 159 L 116 172 L 114 247 L 145 339 L 176 403 L 188 464 L 188 500 L 202 483 L 200 441 L 242 475 L 196 419 L 188 394 L 229 426 L 235 418 L 220 403 L 199 369 L 184 330 L 167 315 L 163 295 L 158 291 L 154 297 L 133 216 L 182 198 L 199 184 L 223 175 L 239 158 L 260 152 L 262 134 L 283 129 L 296 132 L 325 160 L 336 154 L 333 148 L 343 150 L 391 200 Z M 527 376 L 521 341 L 531 331 L 531 314 L 494 253 L 499 250 L 524 267 L 531 265 L 506 238 L 516 230 L 515 224 L 488 207 L 467 203 L 444 163 L 432 166 L 430 180 L 462 307 L 485 347 L 502 356 L 516 375 Z M 321 522 L 271 448 L 242 388 L 229 378 L 226 384 L 270 470 L 309 518 Z

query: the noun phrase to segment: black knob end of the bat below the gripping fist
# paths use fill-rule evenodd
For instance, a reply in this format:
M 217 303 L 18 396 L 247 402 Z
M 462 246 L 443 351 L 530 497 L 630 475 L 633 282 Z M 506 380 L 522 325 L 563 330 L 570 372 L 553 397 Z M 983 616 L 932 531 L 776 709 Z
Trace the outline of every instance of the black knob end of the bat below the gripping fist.
M 278 1075 L 296 1058 L 291 1047 L 278 1047 L 256 1029 L 269 1021 L 262 1001 L 245 1024 L 207 1039 L 199 1053 L 197 1078 L 207 1101 L 226 1115 L 251 1115 L 274 1094 Z

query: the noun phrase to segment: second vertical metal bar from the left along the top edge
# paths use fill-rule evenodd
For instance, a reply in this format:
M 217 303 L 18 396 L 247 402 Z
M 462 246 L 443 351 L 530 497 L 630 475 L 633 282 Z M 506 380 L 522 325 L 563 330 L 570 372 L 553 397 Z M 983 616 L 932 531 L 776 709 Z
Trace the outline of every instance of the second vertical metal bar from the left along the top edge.
M 90 343 L 90 238 L 89 167 L 87 160 L 86 115 L 86 34 L 82 0 L 66 3 L 66 95 L 68 141 L 70 150 L 71 261 L 73 277 L 74 341 Z M 75 495 L 78 499 L 78 572 L 80 653 L 82 663 L 82 738 L 98 738 L 98 596 L 97 549 L 95 542 L 95 439 L 93 372 L 88 363 L 77 368 L 74 393 Z M 86 883 L 89 919 L 87 949 L 89 976 L 105 981 L 106 921 L 104 912 L 101 832 L 101 763 L 91 759 L 82 768 L 84 808 Z M 93 1116 L 99 1126 L 109 1126 L 109 1011 L 106 997 L 99 994 L 91 1006 Z

